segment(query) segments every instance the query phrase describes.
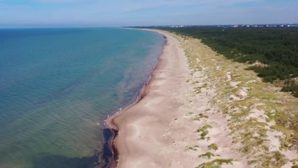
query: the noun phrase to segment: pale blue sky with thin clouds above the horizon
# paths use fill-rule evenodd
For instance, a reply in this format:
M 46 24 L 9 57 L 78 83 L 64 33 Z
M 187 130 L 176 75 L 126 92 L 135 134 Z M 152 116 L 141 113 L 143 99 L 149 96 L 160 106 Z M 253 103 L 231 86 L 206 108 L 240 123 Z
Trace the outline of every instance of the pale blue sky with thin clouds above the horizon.
M 298 23 L 298 0 L 0 0 L 0 27 Z

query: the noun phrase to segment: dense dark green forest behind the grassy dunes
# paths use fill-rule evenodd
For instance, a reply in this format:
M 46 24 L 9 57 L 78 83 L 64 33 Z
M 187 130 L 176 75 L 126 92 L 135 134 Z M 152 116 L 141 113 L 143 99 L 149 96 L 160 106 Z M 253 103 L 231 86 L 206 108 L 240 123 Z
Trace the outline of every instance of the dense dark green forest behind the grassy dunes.
M 247 68 L 264 82 L 298 77 L 298 28 L 160 28 L 201 39 L 214 51 L 238 62 L 255 63 Z M 298 97 L 298 84 L 282 91 Z

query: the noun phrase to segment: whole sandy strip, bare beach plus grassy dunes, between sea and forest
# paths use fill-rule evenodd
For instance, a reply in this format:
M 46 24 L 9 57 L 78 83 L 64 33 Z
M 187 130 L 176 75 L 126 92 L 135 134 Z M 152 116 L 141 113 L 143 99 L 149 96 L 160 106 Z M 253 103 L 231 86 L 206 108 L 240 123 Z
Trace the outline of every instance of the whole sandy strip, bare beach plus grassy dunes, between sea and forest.
M 151 31 L 167 40 L 151 79 L 139 101 L 107 120 L 117 168 L 297 164 L 295 148 L 283 147 L 292 133 L 269 118 L 296 112 L 297 99 L 199 39 Z

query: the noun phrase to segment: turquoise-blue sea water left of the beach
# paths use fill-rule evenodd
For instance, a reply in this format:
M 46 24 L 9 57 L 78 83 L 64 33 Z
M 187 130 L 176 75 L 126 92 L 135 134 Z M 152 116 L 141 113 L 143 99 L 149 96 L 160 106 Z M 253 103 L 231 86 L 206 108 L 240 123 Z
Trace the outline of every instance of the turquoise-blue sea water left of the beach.
M 0 29 L 0 168 L 101 167 L 103 120 L 137 98 L 162 45 L 133 29 Z

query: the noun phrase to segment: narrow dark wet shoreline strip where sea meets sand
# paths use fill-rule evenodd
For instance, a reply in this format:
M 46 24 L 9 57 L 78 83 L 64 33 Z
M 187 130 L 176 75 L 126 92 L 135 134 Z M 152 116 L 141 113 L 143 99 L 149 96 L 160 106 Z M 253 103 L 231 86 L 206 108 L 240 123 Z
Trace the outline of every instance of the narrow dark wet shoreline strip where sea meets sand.
M 115 140 L 117 139 L 117 136 L 119 134 L 119 128 L 118 128 L 117 124 L 114 122 L 114 119 L 116 119 L 117 117 L 122 115 L 128 109 L 135 106 L 137 103 L 139 103 L 146 96 L 146 90 L 147 90 L 146 87 L 148 87 L 148 84 L 150 83 L 150 81 L 153 77 L 153 72 L 156 70 L 156 68 L 158 67 L 158 64 L 160 63 L 160 56 L 162 56 L 164 48 L 165 48 L 165 46 L 167 46 L 167 43 L 168 43 L 168 38 L 165 36 L 165 34 L 158 31 L 158 30 L 146 29 L 146 28 L 144 28 L 144 29 L 141 29 L 141 28 L 126 28 L 126 29 L 138 29 L 138 30 L 144 30 L 144 31 L 154 31 L 156 33 L 161 34 L 164 37 L 165 44 L 162 46 L 162 50 L 160 52 L 160 55 L 157 57 L 158 61 L 157 61 L 156 65 L 149 72 L 148 80 L 146 81 L 146 83 L 144 83 L 144 85 L 139 90 L 139 94 L 138 94 L 137 98 L 131 104 L 127 105 L 123 109 L 121 109 L 117 112 L 114 112 L 112 115 L 108 116 L 107 119 L 104 121 L 105 126 L 108 129 L 110 129 L 111 132 L 113 132 L 113 136 L 110 138 L 110 140 L 108 140 L 108 144 L 109 144 L 109 147 L 110 147 L 110 150 L 111 150 L 113 156 L 111 158 L 110 163 L 108 163 L 107 168 L 116 168 L 118 166 L 118 162 L 119 162 L 119 152 L 118 152 L 117 146 L 115 144 Z

